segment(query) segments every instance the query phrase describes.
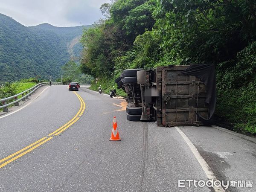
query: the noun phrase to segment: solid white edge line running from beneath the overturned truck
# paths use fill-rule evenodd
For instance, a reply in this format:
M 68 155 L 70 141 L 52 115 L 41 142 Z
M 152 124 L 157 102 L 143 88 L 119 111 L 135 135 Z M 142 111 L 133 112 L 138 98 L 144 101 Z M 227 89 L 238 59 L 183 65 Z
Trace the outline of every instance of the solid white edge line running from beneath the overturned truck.
M 186 137 L 186 135 L 183 133 L 183 131 L 180 130 L 179 127 L 175 127 L 175 129 L 179 132 L 181 137 L 183 137 L 183 139 L 185 140 L 186 144 L 189 146 L 189 148 L 191 149 L 192 153 L 195 155 L 195 158 L 198 160 L 199 164 L 201 165 L 202 169 L 204 170 L 204 173 L 206 174 L 207 179 L 209 179 L 209 180 L 216 180 L 216 177 L 215 177 L 214 173 L 212 172 L 212 169 L 208 166 L 208 164 L 206 163 L 204 158 L 198 152 L 198 150 L 195 147 L 195 145 L 193 145 L 193 143 L 189 140 L 188 137 Z M 220 191 L 224 192 L 225 191 L 222 187 L 215 187 L 215 186 L 213 186 L 213 189 L 216 192 L 220 192 Z

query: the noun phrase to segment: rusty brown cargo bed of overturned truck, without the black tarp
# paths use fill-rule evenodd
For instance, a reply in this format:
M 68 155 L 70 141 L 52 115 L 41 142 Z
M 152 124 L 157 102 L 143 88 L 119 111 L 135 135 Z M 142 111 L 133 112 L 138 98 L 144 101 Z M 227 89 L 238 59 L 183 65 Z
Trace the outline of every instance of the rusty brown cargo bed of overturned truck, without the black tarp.
M 157 67 L 157 125 L 201 125 L 208 119 L 205 84 L 195 76 L 179 75 L 189 66 Z

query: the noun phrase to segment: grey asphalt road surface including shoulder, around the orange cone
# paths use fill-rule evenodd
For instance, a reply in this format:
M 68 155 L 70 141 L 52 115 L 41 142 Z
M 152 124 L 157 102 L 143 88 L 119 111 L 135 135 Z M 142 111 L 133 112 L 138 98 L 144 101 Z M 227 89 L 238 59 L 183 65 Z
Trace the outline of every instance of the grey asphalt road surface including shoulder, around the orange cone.
M 214 127 L 157 128 L 154 122 L 130 122 L 124 100 L 84 87 L 76 93 L 85 110 L 56 136 L 49 134 L 82 106 L 67 86 L 49 87 L 26 108 L 0 116 L 0 161 L 51 138 L 0 168 L 0 191 L 214 191 L 187 183 L 178 187 L 179 179 L 207 180 L 179 128 L 218 180 L 253 180 L 253 188 L 229 191 L 256 191 L 255 139 Z M 113 116 L 120 142 L 109 142 Z

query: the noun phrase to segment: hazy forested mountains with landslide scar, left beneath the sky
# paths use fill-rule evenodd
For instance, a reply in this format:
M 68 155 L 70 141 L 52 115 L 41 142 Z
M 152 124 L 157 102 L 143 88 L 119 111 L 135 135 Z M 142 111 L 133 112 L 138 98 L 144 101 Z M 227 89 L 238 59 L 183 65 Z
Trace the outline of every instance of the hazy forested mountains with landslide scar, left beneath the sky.
M 83 28 L 48 23 L 26 27 L 0 14 L 0 82 L 41 76 L 58 78 L 60 68 L 81 52 Z

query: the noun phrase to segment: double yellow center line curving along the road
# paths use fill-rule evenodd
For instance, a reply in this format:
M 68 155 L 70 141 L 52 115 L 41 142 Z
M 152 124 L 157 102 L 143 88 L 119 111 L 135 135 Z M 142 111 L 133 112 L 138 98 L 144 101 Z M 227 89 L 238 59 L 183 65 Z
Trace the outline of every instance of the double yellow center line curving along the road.
M 0 168 L 6 166 L 7 164 L 11 163 L 12 161 L 22 157 L 23 155 L 29 153 L 30 151 L 34 150 L 35 148 L 39 147 L 40 145 L 51 140 L 53 138 L 53 136 L 57 136 L 58 134 L 61 134 L 63 131 L 65 131 L 67 128 L 69 128 L 71 125 L 73 125 L 75 122 L 77 122 L 79 120 L 79 118 L 84 113 L 85 103 L 84 103 L 84 100 L 81 98 L 81 96 L 78 93 L 76 93 L 76 92 L 73 92 L 73 93 L 76 94 L 76 96 L 78 97 L 80 104 L 81 104 L 79 111 L 76 113 L 76 115 L 73 117 L 73 119 L 71 119 L 65 125 L 58 128 L 56 131 L 53 131 L 52 133 L 50 133 L 47 137 L 43 137 L 40 140 L 36 141 L 35 143 L 32 143 L 31 145 L 28 145 L 28 146 L 24 147 L 23 149 L 20 149 L 19 151 L 9 155 L 8 157 L 1 159 L 0 160 Z

